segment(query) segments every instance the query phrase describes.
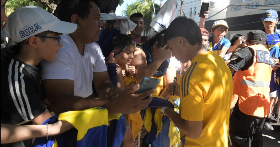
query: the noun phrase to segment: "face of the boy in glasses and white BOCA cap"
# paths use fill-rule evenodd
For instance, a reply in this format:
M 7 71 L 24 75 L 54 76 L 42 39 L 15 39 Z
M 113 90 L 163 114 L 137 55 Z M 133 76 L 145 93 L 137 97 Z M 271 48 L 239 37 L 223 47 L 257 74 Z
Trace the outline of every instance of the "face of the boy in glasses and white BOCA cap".
M 49 33 L 46 36 L 48 37 L 60 37 L 59 34 Z M 48 62 L 54 62 L 57 56 L 57 52 L 59 48 L 62 47 L 63 44 L 60 42 L 58 45 L 58 39 L 53 38 L 45 38 L 45 41 L 40 41 L 39 43 L 39 54 L 44 60 Z

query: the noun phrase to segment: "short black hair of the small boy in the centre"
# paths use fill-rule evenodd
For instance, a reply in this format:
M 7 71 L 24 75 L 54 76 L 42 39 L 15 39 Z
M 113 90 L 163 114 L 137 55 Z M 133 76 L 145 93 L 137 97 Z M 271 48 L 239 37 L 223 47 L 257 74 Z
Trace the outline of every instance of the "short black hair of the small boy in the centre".
M 113 38 L 112 46 L 114 49 L 120 50 L 127 45 L 136 45 L 136 42 L 134 41 L 133 38 L 126 34 L 118 34 Z

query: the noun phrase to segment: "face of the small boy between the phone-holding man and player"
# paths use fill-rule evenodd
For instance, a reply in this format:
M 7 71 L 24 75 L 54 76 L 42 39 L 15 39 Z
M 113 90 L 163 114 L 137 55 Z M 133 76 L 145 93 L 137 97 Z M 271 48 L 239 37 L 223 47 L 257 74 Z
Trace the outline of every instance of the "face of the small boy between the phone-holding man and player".
M 121 63 L 129 65 L 134 58 L 136 45 L 129 44 L 127 45 L 126 49 L 121 53 L 122 57 L 118 60 Z

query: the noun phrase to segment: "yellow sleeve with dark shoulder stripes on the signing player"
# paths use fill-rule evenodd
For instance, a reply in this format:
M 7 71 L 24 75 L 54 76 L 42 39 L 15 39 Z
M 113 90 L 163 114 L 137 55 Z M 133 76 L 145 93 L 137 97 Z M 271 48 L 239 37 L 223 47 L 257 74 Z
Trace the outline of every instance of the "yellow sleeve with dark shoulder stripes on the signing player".
M 190 121 L 203 120 L 204 98 L 210 87 L 207 65 L 194 62 L 182 76 L 180 85 L 180 115 Z

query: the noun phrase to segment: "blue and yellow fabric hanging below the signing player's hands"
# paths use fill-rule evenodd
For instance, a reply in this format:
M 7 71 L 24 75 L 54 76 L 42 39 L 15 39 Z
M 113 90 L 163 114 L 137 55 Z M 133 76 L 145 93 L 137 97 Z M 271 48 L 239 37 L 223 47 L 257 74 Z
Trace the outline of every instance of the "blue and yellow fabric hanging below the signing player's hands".
M 149 131 L 145 142 L 153 147 L 179 146 L 179 130 L 170 121 L 168 116 L 162 115 L 159 107 L 179 108 L 179 99 L 173 100 L 174 104 L 162 98 L 153 97 L 149 106 L 141 110 L 144 126 Z M 176 107 L 176 108 L 175 108 Z M 178 109 L 179 110 L 179 109 Z

